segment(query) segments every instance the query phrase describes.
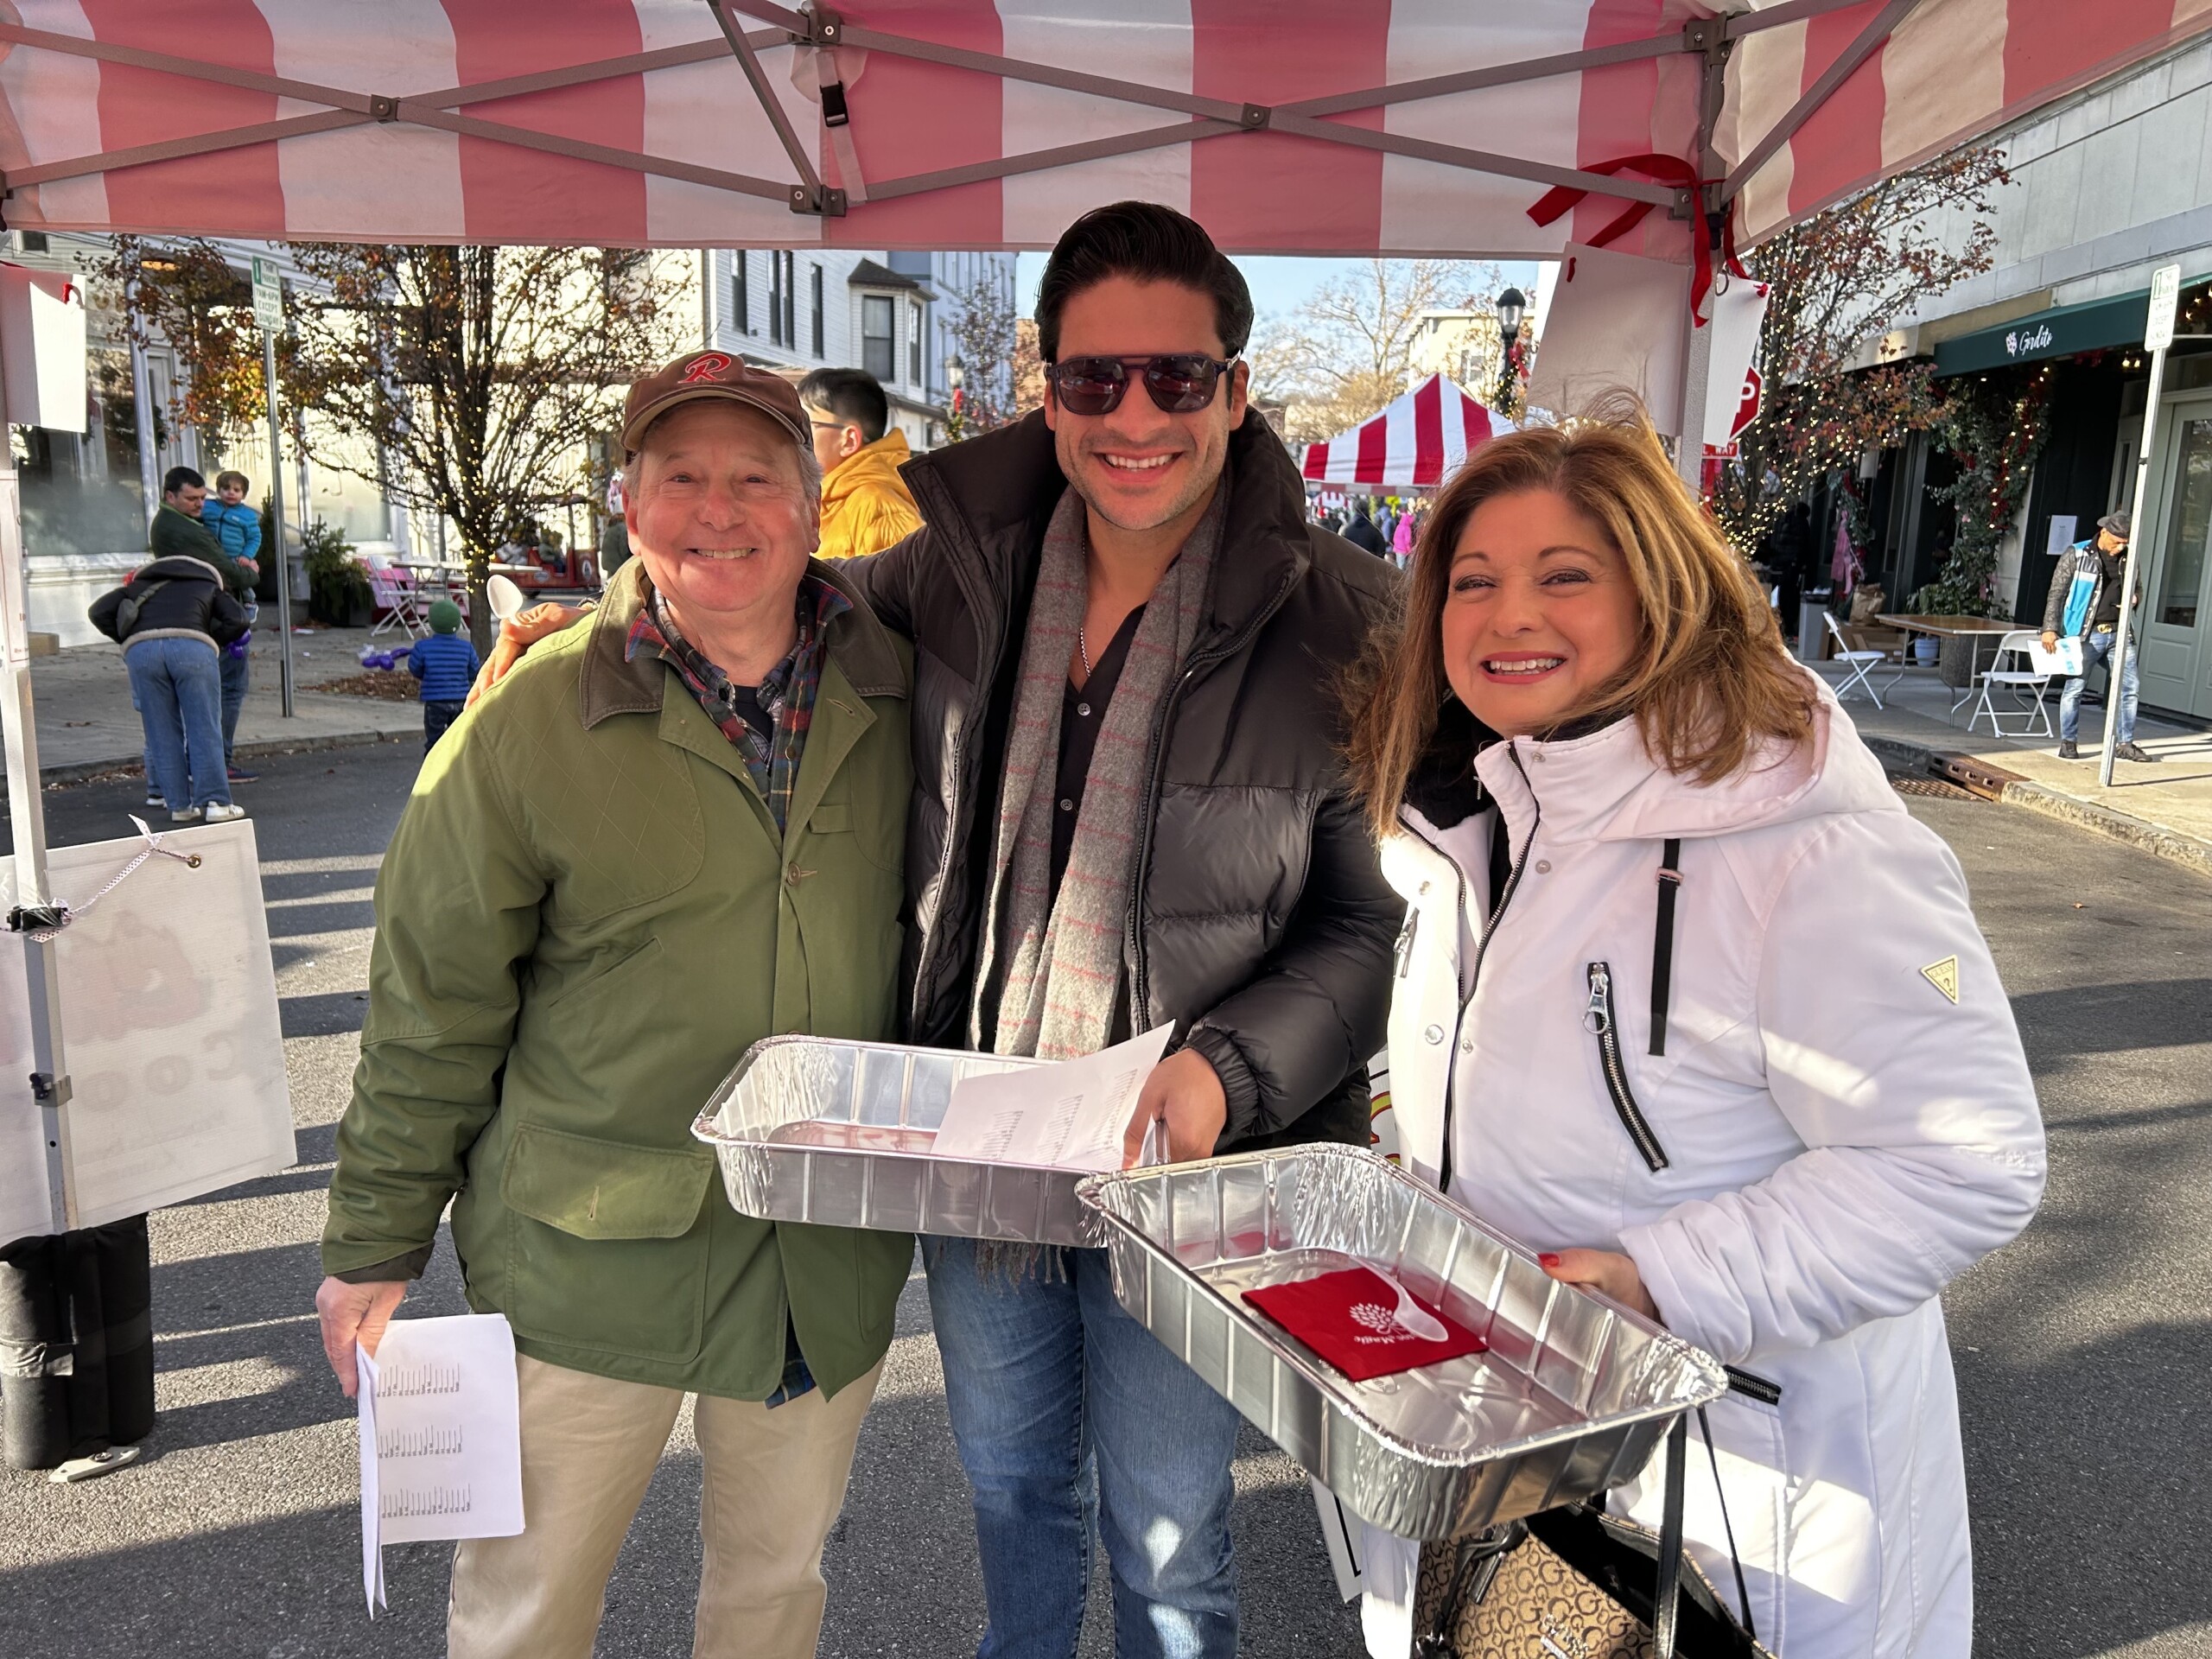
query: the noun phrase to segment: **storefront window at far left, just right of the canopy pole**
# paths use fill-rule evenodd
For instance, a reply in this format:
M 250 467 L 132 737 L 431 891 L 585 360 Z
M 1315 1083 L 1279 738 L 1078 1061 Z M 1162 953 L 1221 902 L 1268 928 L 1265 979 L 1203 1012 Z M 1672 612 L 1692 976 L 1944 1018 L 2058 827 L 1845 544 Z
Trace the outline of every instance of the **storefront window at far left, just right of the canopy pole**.
M 22 546 L 33 557 L 146 549 L 131 354 L 95 345 L 86 356 L 84 434 L 13 429 Z

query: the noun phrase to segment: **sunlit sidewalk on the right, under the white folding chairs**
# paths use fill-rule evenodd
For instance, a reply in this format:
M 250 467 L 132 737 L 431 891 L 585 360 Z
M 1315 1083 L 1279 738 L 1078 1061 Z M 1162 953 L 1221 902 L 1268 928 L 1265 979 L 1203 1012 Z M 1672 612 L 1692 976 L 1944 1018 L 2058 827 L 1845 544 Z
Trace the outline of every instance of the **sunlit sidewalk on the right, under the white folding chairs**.
M 1845 679 L 1838 664 L 1818 664 L 1818 670 L 1829 686 Z M 1991 737 L 1986 717 L 1969 732 L 1966 717 L 1973 703 L 1962 703 L 1951 714 L 1951 699 L 1958 692 L 1944 686 L 1933 668 L 1907 670 L 1891 688 L 1889 679 L 1896 672 L 1896 666 L 1869 672 L 1882 695 L 1880 710 L 1856 688 L 1845 703 L 1860 737 L 1885 759 L 1922 765 L 1936 754 L 1966 757 L 2008 776 L 2002 799 L 2013 805 L 2130 841 L 2212 876 L 2212 732 L 2166 726 L 2146 714 L 2137 721 L 2135 741 L 2163 761 L 2159 765 L 2117 761 L 2112 787 L 2101 790 L 2095 759 L 2104 745 L 2101 703 L 2081 706 L 2084 759 L 2062 761 L 2057 737 Z M 2059 723 L 2062 684 L 2053 681 L 2046 699 L 2053 732 Z M 2006 706 L 2002 697 L 1993 701 L 2000 710 Z M 2002 719 L 2006 732 L 2022 723 L 2022 717 L 2011 712 Z

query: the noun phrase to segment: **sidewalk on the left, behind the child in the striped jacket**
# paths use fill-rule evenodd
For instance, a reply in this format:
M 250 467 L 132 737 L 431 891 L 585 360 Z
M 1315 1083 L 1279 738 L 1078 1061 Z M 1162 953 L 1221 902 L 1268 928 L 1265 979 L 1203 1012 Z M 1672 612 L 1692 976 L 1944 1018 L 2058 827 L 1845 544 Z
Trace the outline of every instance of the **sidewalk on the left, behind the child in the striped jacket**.
M 254 630 L 254 677 L 239 710 L 237 754 L 347 748 L 352 743 L 422 741 L 420 703 L 385 703 L 307 690 L 361 672 L 367 628 L 319 628 L 292 635 L 292 672 L 299 686 L 294 717 L 283 717 L 274 626 Z M 376 644 L 405 644 L 385 630 Z M 38 772 L 49 785 L 75 783 L 117 768 L 137 768 L 146 748 L 122 646 L 73 646 L 31 661 L 31 706 L 38 719 Z M 4 796 L 4 781 L 0 781 Z

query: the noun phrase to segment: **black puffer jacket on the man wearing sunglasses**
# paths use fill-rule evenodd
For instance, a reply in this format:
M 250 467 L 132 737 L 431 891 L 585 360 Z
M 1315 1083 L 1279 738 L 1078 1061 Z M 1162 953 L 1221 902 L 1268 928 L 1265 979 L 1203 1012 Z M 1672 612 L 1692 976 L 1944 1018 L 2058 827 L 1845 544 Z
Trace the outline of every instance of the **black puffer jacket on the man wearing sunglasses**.
M 907 1033 L 964 1046 L 1006 726 L 1046 520 L 1066 480 L 1044 416 L 905 467 L 927 529 L 843 566 L 914 661 Z M 1230 436 L 1214 593 L 1161 699 L 1124 942 L 1133 1029 L 1172 1020 L 1221 1073 L 1223 1150 L 1367 1144 L 1405 905 L 1338 761 L 1338 670 L 1396 573 L 1305 522 L 1256 416 Z

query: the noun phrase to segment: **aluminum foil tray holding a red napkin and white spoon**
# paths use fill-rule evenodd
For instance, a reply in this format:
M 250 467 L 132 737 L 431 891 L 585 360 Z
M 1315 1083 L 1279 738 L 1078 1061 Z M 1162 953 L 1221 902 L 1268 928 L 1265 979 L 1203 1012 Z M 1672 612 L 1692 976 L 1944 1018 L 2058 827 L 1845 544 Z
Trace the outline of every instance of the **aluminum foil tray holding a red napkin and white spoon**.
M 1632 1480 L 1719 1360 L 1551 1279 L 1352 1146 L 1093 1175 L 1119 1303 L 1363 1520 L 1400 1537 L 1535 1515 Z M 1354 1383 L 1241 1292 L 1371 1263 L 1489 1340 Z

